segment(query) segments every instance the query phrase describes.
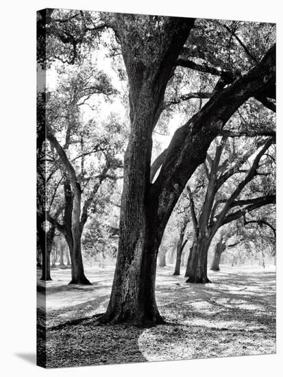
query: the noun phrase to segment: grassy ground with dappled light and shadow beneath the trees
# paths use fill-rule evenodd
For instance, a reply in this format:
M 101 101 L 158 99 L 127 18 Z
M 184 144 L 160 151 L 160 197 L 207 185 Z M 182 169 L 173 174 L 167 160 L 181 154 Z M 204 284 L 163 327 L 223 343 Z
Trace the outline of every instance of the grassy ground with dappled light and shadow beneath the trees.
M 212 284 L 186 284 L 182 275 L 172 276 L 173 267 L 159 268 L 156 298 L 169 324 L 146 329 L 93 326 L 90 317 L 106 310 L 113 267 L 86 269 L 91 287 L 66 285 L 69 270 L 51 272 L 47 367 L 275 353 L 273 266 L 221 266 L 210 271 Z M 42 324 L 44 300 L 39 292 Z M 64 326 L 82 317 L 86 320 Z

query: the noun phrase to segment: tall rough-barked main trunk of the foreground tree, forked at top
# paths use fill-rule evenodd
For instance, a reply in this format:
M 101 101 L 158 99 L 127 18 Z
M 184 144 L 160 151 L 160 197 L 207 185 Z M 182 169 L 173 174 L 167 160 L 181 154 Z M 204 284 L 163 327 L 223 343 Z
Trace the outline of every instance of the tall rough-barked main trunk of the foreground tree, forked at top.
M 131 132 L 125 152 L 114 282 L 108 309 L 99 321 L 130 321 L 137 326 L 152 326 L 163 322 L 155 297 L 156 259 L 163 232 L 158 231 L 157 207 L 149 195 L 151 134 L 162 111 L 167 82 L 194 20 L 168 18 L 157 46 L 151 45 L 150 38 L 144 40 L 147 36 L 143 32 L 138 40 L 136 18 L 138 21 L 138 16 L 116 16 L 129 77 Z M 136 42 L 153 49 L 147 53 L 140 51 Z

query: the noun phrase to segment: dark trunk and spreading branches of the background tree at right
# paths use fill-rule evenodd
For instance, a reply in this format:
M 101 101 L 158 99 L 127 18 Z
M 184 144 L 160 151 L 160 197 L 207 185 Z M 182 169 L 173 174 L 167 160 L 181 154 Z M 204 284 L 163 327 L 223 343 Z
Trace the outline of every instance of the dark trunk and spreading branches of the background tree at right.
M 193 247 L 190 250 L 186 268 L 187 282 L 209 282 L 207 277 L 208 249 L 214 235 L 221 226 L 243 217 L 245 213 L 256 210 L 256 208 L 275 203 L 272 186 L 269 188 L 269 192 L 263 196 L 253 198 L 249 196 L 247 198 L 247 195 L 246 197 L 244 195 L 244 199 L 241 198 L 244 189 L 249 182 L 252 182 L 253 178 L 262 174 L 265 177 L 268 174 L 267 171 L 264 171 L 264 167 L 260 167 L 260 161 L 273 143 L 273 138 L 265 141 L 260 139 L 258 141 L 256 157 L 249 167 L 248 158 L 251 158 L 254 154 L 252 145 L 248 151 L 244 152 L 242 150 L 241 154 L 239 154 L 234 144 L 232 144 L 232 151 L 230 150 L 228 156 L 224 157 L 221 162 L 223 150 L 225 149 L 225 145 L 227 145 L 227 139 L 223 137 L 216 147 L 214 158 L 208 154 L 204 163 L 208 186 L 204 202 L 201 203 L 201 211 L 198 218 L 195 215 L 193 194 L 190 191 L 190 187 L 187 186 L 190 195 L 192 222 L 195 230 Z M 259 147 L 262 144 L 263 147 Z M 235 178 L 235 175 L 240 175 L 241 178 Z M 228 180 L 231 182 L 231 179 L 233 179 L 232 190 L 230 189 L 231 186 L 227 189 L 227 182 Z M 239 209 L 234 210 L 235 208 Z M 223 249 L 224 245 L 223 240 L 219 241 L 219 252 Z

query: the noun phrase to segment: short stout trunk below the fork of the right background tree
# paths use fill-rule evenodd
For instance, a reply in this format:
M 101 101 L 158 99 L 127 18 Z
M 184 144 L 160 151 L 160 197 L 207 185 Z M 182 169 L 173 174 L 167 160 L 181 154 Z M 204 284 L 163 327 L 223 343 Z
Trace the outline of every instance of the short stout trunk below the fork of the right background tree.
M 190 248 L 190 255 L 188 256 L 188 263 L 186 268 L 186 282 L 192 283 L 207 283 L 207 265 L 208 265 L 208 249 L 210 241 L 204 235 L 199 236 L 192 247 Z

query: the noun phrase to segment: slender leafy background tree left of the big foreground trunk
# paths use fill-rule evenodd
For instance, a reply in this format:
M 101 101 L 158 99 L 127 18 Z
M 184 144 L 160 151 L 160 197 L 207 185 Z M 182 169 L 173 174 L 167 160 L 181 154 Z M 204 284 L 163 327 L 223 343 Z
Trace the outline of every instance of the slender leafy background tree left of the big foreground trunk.
M 84 224 L 90 210 L 95 210 L 95 197 L 101 184 L 106 180 L 116 180 L 115 170 L 122 167 L 120 158 L 121 137 L 111 135 L 121 132 L 121 125 L 110 115 L 109 124 L 99 134 L 92 121 L 82 122 L 80 106 L 86 104 L 93 95 L 110 95 L 114 93 L 112 86 L 103 73 L 97 73 L 88 65 L 66 75 L 54 95 L 50 95 L 47 103 L 47 140 L 50 143 L 51 166 L 62 173 L 59 184 L 64 186 L 64 215 L 62 222 L 56 221 L 47 211 L 47 220 L 64 234 L 69 245 L 71 256 L 70 284 L 90 284 L 84 275 L 82 260 L 81 237 Z M 97 127 L 98 128 L 98 127 Z M 63 143 L 59 141 L 64 132 Z M 56 136 L 58 134 L 58 136 Z M 70 147 L 77 145 L 77 156 L 70 158 Z M 100 172 L 95 166 L 89 165 L 86 174 L 86 157 L 97 155 Z M 58 158 L 57 158 L 58 156 Z M 80 162 L 80 165 L 77 162 Z M 51 171 L 53 171 L 51 167 Z M 92 186 L 92 187 L 91 187 Z M 82 203 L 82 195 L 86 196 Z

